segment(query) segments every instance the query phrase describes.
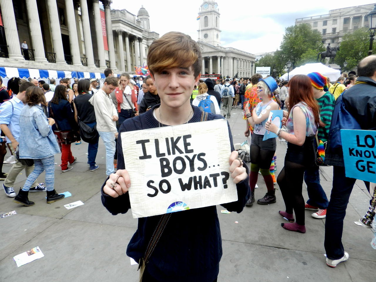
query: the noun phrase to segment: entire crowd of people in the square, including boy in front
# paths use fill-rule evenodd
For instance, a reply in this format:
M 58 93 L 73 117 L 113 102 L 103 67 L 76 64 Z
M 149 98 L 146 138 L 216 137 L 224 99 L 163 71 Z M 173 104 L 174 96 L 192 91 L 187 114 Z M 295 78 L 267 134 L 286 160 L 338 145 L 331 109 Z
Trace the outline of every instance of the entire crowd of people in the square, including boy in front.
M 332 146 L 330 128 L 336 100 L 341 100 L 361 129 L 376 130 L 376 56 L 359 62 L 359 76 L 343 74 L 333 84 L 317 72 L 295 75 L 290 81 L 271 76 L 263 79 L 257 73 L 249 79 L 203 81 L 199 75 L 202 69 L 199 50 L 197 42 L 179 32 L 156 39 L 147 57 L 150 75 L 141 85 L 127 73 L 115 77 L 111 69 L 105 70 L 106 78 L 100 87 L 96 79 L 75 80 L 72 84 L 70 79 L 61 79 L 59 85 L 54 79 L 50 84 L 17 77 L 9 80 L 8 89 L 0 88 L 0 168 L 6 163 L 6 143 L 13 156 L 9 158 L 9 163 L 13 163 L 9 172 L 0 171 L 6 195 L 24 206 L 34 205 L 28 199 L 28 193 L 33 191 L 46 191 L 47 203 L 64 198 L 54 186 L 55 154 L 61 152 L 62 172 L 70 171 L 77 161 L 71 143 L 81 144 L 81 138 L 85 138 L 89 140 L 89 170 L 97 170 L 100 137 L 106 150 L 107 175 L 101 189 L 102 202 L 114 215 L 125 213 L 131 208 L 128 194 L 131 183 L 118 138 L 121 132 L 200 122 L 204 121 L 202 112 L 208 113 L 206 120 L 230 118 L 233 108 L 241 108 L 246 121 L 244 134 L 251 138 L 250 170 L 238 158 L 230 134 L 230 171 L 238 200 L 223 206 L 236 212 L 241 212 L 244 206 L 253 206 L 261 174 L 267 193 L 256 202 L 276 203 L 274 185 L 278 185 L 285 203 L 285 210 L 278 213 L 288 221 L 281 226 L 305 233 L 305 209 L 315 211 L 312 217 L 326 218 L 326 264 L 336 267 L 346 261 L 349 254 L 341 243 L 343 220 L 356 179 L 346 177 L 343 153 Z M 278 109 L 283 110 L 282 128 L 268 120 L 270 111 Z M 287 142 L 284 166 L 277 179 L 276 138 L 263 140 L 267 130 Z M 326 144 L 325 164 L 332 165 L 334 171 L 330 199 L 320 185 L 316 164 L 317 147 L 321 143 Z M 23 169 L 27 179 L 16 194 L 14 183 Z M 42 171 L 46 172 L 45 182 L 37 183 Z M 303 181 L 308 190 L 307 201 L 302 196 Z M 371 193 L 370 183 L 366 186 Z M 370 209 L 362 222 L 370 226 L 373 217 L 374 206 L 373 214 Z M 161 226 L 161 220 L 159 216 L 139 218 L 138 229 L 128 246 L 127 255 L 144 268 L 141 279 L 167 281 L 179 274 L 183 281 L 217 281 L 222 249 L 215 207 L 168 217 L 168 224 L 163 225 L 168 236 L 157 241 L 159 247 L 151 251 L 151 257 L 145 257 L 148 241 L 155 227 Z M 171 238 L 179 240 L 171 243 Z M 189 254 L 188 259 L 181 253 Z

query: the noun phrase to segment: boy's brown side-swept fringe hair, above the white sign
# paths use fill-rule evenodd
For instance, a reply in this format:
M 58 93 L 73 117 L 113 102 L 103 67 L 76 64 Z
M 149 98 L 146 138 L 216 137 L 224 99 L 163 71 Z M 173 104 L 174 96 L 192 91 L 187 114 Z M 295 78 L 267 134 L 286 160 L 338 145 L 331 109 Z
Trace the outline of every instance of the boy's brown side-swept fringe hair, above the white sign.
M 171 31 L 154 40 L 150 45 L 147 64 L 152 74 L 164 68 L 192 66 L 194 77 L 197 77 L 202 68 L 200 47 L 191 36 Z

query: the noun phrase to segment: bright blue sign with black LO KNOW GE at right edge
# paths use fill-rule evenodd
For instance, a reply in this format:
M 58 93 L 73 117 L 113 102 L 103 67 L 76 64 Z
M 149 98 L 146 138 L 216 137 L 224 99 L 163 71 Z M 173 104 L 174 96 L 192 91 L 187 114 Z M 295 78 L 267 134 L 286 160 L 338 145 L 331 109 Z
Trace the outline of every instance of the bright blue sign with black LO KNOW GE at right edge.
M 346 177 L 375 182 L 376 131 L 341 129 Z

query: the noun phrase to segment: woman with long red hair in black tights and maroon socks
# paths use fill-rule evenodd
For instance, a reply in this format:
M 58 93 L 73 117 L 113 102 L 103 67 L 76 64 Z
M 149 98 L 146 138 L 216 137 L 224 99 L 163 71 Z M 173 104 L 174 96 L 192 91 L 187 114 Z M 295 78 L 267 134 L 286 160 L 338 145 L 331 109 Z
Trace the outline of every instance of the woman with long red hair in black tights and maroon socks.
M 286 211 L 279 214 L 290 223 L 282 223 L 284 229 L 305 233 L 304 199 L 302 185 L 304 171 L 315 164 L 315 135 L 320 122 L 318 104 L 314 99 L 311 80 L 299 74 L 290 79 L 288 119 L 284 117 L 287 132 L 269 121 L 266 129 L 287 141 L 285 166 L 279 173 L 277 183 L 285 201 Z M 296 222 L 294 222 L 293 210 Z

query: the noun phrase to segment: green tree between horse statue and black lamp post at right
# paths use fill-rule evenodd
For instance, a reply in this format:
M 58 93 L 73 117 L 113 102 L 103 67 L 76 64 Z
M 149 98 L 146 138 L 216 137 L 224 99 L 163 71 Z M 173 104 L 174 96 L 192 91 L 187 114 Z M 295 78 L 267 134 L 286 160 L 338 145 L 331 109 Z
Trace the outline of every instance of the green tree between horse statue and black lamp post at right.
M 367 28 L 346 34 L 341 41 L 340 50 L 337 52 L 334 62 L 343 67 L 344 61 L 347 61 L 347 66 L 343 67 L 344 70 L 356 68 L 358 62 L 368 55 L 369 39 L 370 34 Z

